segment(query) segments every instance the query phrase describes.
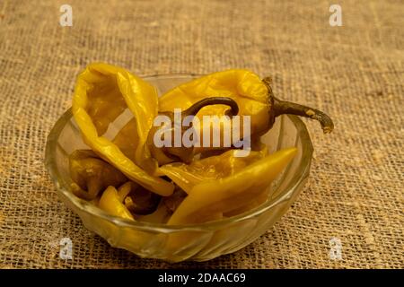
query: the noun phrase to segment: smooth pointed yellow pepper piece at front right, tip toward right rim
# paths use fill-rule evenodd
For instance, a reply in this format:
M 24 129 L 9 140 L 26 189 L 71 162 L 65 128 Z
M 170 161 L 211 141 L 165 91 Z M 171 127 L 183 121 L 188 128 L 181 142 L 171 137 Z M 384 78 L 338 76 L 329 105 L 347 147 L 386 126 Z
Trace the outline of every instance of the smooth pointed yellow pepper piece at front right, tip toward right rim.
M 292 161 L 296 148 L 275 152 L 232 176 L 201 182 L 172 214 L 169 225 L 201 222 L 207 214 L 230 213 L 250 204 Z

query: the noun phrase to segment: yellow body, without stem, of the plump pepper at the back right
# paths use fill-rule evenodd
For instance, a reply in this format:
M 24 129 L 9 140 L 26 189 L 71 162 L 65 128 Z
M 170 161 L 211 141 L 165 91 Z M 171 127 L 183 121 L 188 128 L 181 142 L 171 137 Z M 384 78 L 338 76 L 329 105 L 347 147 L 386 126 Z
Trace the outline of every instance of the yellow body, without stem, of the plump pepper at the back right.
M 271 109 L 268 88 L 257 74 L 247 70 L 226 70 L 183 83 L 162 95 L 159 99 L 159 110 L 172 112 L 174 109 L 188 109 L 198 100 L 209 97 L 227 97 L 235 100 L 239 107 L 238 115 L 250 116 L 251 137 L 263 135 L 268 131 Z M 228 109 L 224 105 L 215 105 L 199 110 L 197 117 L 201 122 L 198 131 L 200 138 L 202 138 L 203 116 L 225 116 Z M 224 124 L 227 123 L 222 122 L 222 125 Z M 195 153 L 207 149 L 211 148 L 198 147 Z

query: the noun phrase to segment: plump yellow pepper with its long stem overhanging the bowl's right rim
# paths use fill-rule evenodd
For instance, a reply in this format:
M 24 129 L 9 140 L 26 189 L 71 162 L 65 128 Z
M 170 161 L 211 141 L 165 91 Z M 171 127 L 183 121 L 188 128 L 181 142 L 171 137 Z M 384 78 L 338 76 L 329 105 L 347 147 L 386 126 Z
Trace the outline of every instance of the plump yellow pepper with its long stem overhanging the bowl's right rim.
M 226 70 L 214 74 L 195 79 L 189 83 L 183 83 L 180 86 L 166 92 L 159 99 L 159 111 L 161 113 L 169 113 L 174 109 L 190 109 L 193 105 L 198 104 L 201 100 L 226 98 L 235 101 L 238 110 L 238 116 L 250 117 L 250 135 L 243 135 L 243 121 L 240 122 L 241 138 L 250 136 L 250 139 L 265 134 L 273 126 L 275 118 L 283 114 L 294 114 L 301 117 L 310 117 L 321 123 L 324 133 L 329 133 L 333 129 L 332 120 L 318 109 L 312 109 L 293 102 L 278 100 L 271 89 L 270 78 L 260 79 L 257 74 L 253 74 L 247 70 Z M 233 107 L 232 107 L 233 109 Z M 215 125 L 203 126 L 204 116 L 224 116 L 229 108 L 223 104 L 217 104 L 200 109 L 197 113 L 200 126 L 196 127 L 196 133 L 199 138 L 203 138 L 204 128 L 213 129 Z M 234 119 L 238 120 L 238 119 Z M 220 121 L 220 139 L 224 136 L 224 126 L 234 126 L 232 120 L 225 120 L 221 117 Z M 198 128 L 200 128 L 198 130 Z M 211 133 L 212 135 L 212 133 Z M 150 136 L 150 135 L 149 135 Z M 181 161 L 191 159 L 195 154 L 200 152 L 217 149 L 212 147 L 212 136 L 210 137 L 210 146 L 196 146 L 193 148 L 182 148 L 181 150 L 165 149 L 164 155 L 170 157 L 180 156 Z M 223 144 L 223 141 L 221 140 Z M 233 144 L 233 142 L 232 142 Z M 218 148 L 224 148 L 220 146 Z M 152 149 L 154 157 L 160 163 L 167 163 L 167 159 L 162 158 L 162 152 Z

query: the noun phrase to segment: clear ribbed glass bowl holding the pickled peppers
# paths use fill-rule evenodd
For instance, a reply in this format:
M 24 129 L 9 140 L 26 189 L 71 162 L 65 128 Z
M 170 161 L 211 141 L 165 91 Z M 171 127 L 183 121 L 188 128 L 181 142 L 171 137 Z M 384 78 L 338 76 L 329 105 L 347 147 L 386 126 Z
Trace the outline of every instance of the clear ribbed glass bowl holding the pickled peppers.
M 145 80 L 162 94 L 193 78 L 195 75 L 156 75 L 145 77 Z M 124 112 L 122 117 L 125 115 L 132 117 L 130 112 Z M 107 134 L 118 131 L 119 125 L 119 120 L 115 121 Z M 70 109 L 57 120 L 48 135 L 45 163 L 62 201 L 80 216 L 87 229 L 106 239 L 112 247 L 127 249 L 139 257 L 170 262 L 205 261 L 237 251 L 258 239 L 286 212 L 307 181 L 312 141 L 301 119 L 277 117 L 275 125 L 261 141 L 268 145 L 269 152 L 292 146 L 298 149 L 294 160 L 269 187 L 267 202 L 247 213 L 203 224 L 168 226 L 129 221 L 111 216 L 73 195 L 69 188 L 72 179 L 68 155 L 77 149 L 88 149 L 88 146 L 82 141 Z

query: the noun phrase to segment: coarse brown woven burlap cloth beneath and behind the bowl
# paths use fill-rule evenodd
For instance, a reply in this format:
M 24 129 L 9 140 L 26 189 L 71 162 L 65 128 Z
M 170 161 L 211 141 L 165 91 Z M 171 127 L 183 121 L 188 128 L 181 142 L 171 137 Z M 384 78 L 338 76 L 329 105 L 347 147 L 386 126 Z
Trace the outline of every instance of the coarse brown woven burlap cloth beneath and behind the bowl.
M 404 3 L 335 1 L 0 1 L 0 266 L 33 268 L 403 268 Z M 59 24 L 60 5 L 73 26 Z M 102 61 L 134 74 L 247 68 L 279 98 L 324 110 L 305 120 L 311 179 L 280 222 L 247 248 L 169 264 L 111 248 L 57 197 L 46 137 L 76 75 Z M 59 258 L 59 240 L 73 259 Z M 329 257 L 329 240 L 342 244 Z

